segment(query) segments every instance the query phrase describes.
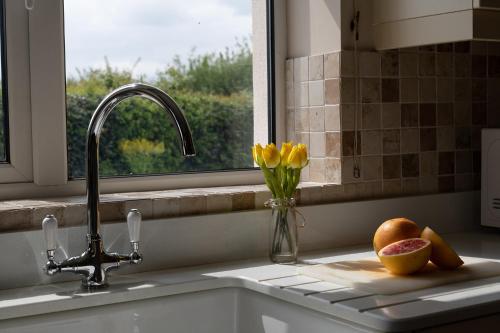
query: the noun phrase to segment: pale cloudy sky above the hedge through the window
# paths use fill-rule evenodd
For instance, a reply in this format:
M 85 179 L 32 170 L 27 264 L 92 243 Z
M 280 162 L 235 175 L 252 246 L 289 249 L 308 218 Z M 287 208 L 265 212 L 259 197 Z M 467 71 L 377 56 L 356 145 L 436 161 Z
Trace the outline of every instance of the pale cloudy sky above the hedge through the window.
M 175 55 L 224 50 L 252 31 L 251 0 L 66 0 L 66 72 L 104 67 L 153 77 Z

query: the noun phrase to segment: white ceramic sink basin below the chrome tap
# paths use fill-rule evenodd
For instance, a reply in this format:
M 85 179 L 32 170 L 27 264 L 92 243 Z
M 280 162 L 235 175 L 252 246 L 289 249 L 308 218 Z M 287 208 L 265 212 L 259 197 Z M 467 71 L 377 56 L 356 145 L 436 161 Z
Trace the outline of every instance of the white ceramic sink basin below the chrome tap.
M 242 288 L 125 302 L 0 321 L 7 333 L 359 332 L 306 308 Z

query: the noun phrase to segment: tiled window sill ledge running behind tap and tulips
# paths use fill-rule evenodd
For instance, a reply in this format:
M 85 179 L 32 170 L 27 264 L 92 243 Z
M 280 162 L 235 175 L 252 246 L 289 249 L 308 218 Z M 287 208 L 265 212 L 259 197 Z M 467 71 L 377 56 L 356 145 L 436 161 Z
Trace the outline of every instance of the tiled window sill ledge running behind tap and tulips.
M 345 185 L 307 182 L 299 185 L 296 197 L 298 205 L 305 206 L 412 194 L 384 193 L 380 181 Z M 102 194 L 100 214 L 103 223 L 125 221 L 132 208 L 139 209 L 144 219 L 216 214 L 263 209 L 270 197 L 265 185 Z M 84 196 L 3 201 L 0 233 L 41 229 L 47 214 L 54 214 L 61 227 L 84 225 L 86 206 Z

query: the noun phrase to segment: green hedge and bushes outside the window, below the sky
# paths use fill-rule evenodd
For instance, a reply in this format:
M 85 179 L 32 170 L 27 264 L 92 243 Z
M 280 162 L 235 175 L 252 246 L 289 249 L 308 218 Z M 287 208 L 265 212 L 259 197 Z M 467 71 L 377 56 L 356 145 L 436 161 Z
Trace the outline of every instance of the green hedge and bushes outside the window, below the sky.
M 252 53 L 247 44 L 222 53 L 193 55 L 187 63 L 177 57 L 172 67 L 148 83 L 166 91 L 183 109 L 197 156 L 181 157 L 177 133 L 164 110 L 146 99 L 131 98 L 118 105 L 104 125 L 100 140 L 101 174 L 251 167 L 251 66 Z M 84 176 L 85 135 L 98 103 L 113 89 L 144 80 L 145 77 L 134 77 L 132 70 L 112 68 L 109 64 L 104 69 L 80 71 L 77 77 L 68 79 L 68 164 L 72 177 Z

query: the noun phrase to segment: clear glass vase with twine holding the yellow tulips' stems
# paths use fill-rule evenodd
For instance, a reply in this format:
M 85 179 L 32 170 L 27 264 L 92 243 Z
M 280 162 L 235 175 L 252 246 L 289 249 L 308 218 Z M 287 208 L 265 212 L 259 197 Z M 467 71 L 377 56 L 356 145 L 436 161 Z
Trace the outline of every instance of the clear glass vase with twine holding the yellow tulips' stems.
M 269 258 L 274 263 L 294 264 L 299 251 L 295 199 L 270 199 L 266 204 L 272 209 Z

